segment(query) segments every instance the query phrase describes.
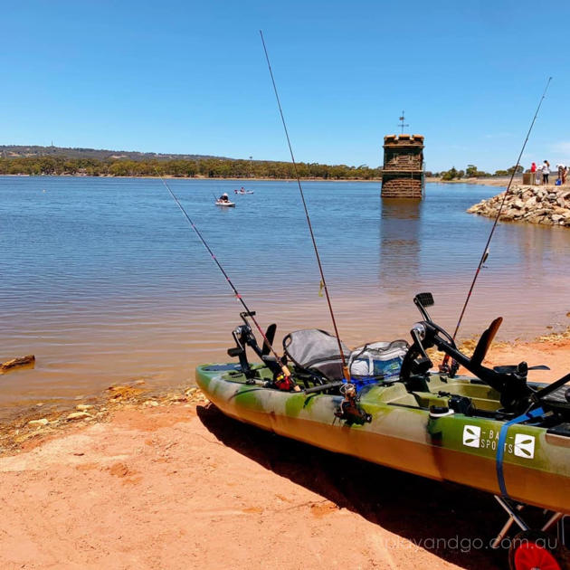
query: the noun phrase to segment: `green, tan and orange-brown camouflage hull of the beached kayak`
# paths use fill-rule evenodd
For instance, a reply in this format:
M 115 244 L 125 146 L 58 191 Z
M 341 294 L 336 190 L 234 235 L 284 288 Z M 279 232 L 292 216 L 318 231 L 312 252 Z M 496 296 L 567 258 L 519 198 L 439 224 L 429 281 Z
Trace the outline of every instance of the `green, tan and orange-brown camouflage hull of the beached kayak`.
M 570 514 L 570 437 L 543 427 L 512 425 L 504 457 L 498 461 L 505 422 L 430 413 L 430 406 L 444 405 L 449 394 L 468 395 L 480 409 L 493 409 L 498 394 L 476 380 L 457 377 L 445 382 L 434 375 L 429 392 L 413 394 L 397 382 L 365 386 L 360 404 L 372 421 L 363 425 L 335 417 L 340 395 L 282 392 L 247 385 L 245 380 L 233 364 L 196 368 L 196 382 L 207 398 L 241 422 L 328 451 L 494 494 L 500 494 L 500 463 L 508 497 Z

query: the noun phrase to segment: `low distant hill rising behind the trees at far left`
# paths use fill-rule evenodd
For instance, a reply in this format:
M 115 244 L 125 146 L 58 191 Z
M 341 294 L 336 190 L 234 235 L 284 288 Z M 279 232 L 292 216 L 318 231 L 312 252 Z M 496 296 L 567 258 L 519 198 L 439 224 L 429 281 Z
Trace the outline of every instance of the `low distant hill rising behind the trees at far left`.
M 24 157 L 65 157 L 65 158 L 95 158 L 108 160 L 127 158 L 128 160 L 203 160 L 207 158 L 220 158 L 233 160 L 227 157 L 213 157 L 210 155 L 166 155 L 156 152 L 138 152 L 136 150 L 105 150 L 98 148 L 66 148 L 66 147 L 28 147 L 18 145 L 0 145 L 0 157 L 24 158 Z

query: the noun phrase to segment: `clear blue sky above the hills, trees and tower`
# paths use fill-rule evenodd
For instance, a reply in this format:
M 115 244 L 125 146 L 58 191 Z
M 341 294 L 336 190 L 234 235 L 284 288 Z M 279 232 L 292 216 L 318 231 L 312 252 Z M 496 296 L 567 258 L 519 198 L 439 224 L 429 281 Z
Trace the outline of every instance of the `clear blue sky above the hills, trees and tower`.
M 0 144 L 378 166 L 385 134 L 427 168 L 570 163 L 570 3 L 54 2 L 3 8 Z

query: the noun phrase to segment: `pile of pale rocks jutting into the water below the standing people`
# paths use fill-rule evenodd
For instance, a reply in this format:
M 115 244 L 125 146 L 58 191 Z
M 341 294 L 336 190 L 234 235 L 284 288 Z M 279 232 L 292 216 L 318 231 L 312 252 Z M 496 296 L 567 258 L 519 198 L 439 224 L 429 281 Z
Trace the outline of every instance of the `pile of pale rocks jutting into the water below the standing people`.
M 494 218 L 505 193 L 481 200 L 469 214 Z M 500 220 L 570 227 L 570 188 L 555 185 L 515 185 L 507 196 Z

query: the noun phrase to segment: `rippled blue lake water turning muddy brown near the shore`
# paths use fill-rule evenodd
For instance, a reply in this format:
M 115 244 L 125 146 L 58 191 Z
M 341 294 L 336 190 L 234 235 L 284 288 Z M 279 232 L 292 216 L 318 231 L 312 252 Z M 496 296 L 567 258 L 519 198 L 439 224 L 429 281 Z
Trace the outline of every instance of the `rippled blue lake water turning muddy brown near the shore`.
M 263 325 L 330 330 L 295 183 L 168 184 Z M 255 194 L 234 196 L 241 185 Z M 303 186 L 349 346 L 407 338 L 421 290 L 454 327 L 492 223 L 465 210 L 499 189 L 427 185 L 421 203 L 383 204 L 378 183 Z M 224 191 L 235 209 L 214 206 Z M 227 359 L 241 306 L 159 180 L 0 177 L 0 200 L 0 361 L 37 358 L 0 376 L 4 409 L 134 378 L 175 385 Z M 569 246 L 564 228 L 499 224 L 461 336 L 499 314 L 502 338 L 565 326 Z

